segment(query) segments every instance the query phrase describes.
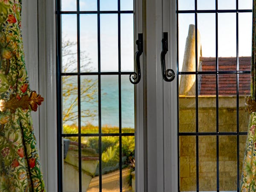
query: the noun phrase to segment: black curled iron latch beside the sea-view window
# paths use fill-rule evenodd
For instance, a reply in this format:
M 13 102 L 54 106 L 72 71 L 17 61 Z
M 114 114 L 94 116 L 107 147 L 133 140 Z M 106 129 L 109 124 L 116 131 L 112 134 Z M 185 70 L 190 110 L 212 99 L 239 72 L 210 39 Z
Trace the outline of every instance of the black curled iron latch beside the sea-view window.
M 130 73 L 130 81 L 132 84 L 138 84 L 140 82 L 140 78 L 141 78 L 141 73 L 140 73 L 140 55 L 143 53 L 143 34 L 139 33 L 138 34 L 138 40 L 136 41 L 137 47 L 138 47 L 138 51 L 135 53 L 135 62 L 137 65 L 137 71 L 136 72 L 131 72 Z

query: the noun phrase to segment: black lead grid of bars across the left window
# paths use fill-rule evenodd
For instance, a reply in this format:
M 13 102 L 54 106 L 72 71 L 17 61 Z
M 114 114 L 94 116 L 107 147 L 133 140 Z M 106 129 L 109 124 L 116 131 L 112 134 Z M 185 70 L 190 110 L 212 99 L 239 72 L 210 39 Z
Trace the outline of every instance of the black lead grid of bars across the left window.
M 100 0 L 97 0 L 97 11 L 80 11 L 79 0 L 76 0 L 76 11 L 61 11 L 61 0 L 56 0 L 56 25 L 57 25 L 57 123 L 58 123 L 58 191 L 63 191 L 63 146 L 62 140 L 64 137 L 78 137 L 78 157 L 79 157 L 79 191 L 82 191 L 82 170 L 81 170 L 81 137 L 99 137 L 99 191 L 102 191 L 102 137 L 103 136 L 116 136 L 119 137 L 119 186 L 122 191 L 122 136 L 134 136 L 134 133 L 122 133 L 122 110 L 121 110 L 121 76 L 129 75 L 131 72 L 121 72 L 121 35 L 120 35 L 120 16 L 121 14 L 133 14 L 134 11 L 121 11 L 120 0 L 117 1 L 117 11 L 100 11 Z M 64 73 L 61 70 L 61 16 L 65 14 L 76 15 L 77 21 L 77 73 Z M 80 71 L 80 15 L 81 14 L 96 14 L 97 15 L 97 38 L 98 38 L 98 72 L 81 72 Z M 118 15 L 118 72 L 101 72 L 101 42 L 100 42 L 100 15 L 102 14 L 117 14 Z M 89 26 L 90 27 L 90 26 Z M 101 77 L 117 75 L 118 76 L 118 95 L 119 95 L 119 133 L 102 133 L 102 113 L 101 113 Z M 61 90 L 63 76 L 74 76 L 78 78 L 78 133 L 77 134 L 63 134 L 62 132 L 62 104 L 61 104 Z M 98 76 L 98 115 L 99 115 L 99 133 L 84 134 L 81 133 L 81 78 L 83 76 Z M 127 80 L 128 76 L 127 76 Z M 74 183 L 75 184 L 75 183 Z

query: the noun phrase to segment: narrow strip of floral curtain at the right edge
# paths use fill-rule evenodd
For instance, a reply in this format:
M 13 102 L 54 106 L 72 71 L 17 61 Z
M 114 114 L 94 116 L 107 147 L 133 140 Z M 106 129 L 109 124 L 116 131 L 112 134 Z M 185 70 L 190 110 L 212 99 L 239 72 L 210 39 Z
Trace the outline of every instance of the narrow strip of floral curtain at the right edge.
M 256 0 L 253 0 L 253 34 L 252 34 L 252 60 L 251 60 L 251 87 L 250 98 L 247 99 L 247 106 L 250 106 L 250 120 L 242 167 L 241 192 L 256 191 Z

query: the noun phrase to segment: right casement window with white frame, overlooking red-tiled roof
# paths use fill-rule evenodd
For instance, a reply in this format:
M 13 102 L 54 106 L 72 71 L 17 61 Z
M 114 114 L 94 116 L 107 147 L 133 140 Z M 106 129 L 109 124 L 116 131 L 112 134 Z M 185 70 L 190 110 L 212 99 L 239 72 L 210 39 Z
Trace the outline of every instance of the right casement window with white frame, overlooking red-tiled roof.
M 239 191 L 252 1 L 154 3 L 146 18 L 147 152 L 155 155 L 148 158 L 148 190 Z M 162 76 L 163 42 L 172 82 Z

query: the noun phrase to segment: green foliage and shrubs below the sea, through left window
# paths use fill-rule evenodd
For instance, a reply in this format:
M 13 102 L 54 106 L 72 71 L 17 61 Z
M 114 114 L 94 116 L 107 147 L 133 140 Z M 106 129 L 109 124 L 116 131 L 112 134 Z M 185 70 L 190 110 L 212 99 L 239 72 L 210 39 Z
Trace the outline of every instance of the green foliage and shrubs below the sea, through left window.
M 134 133 L 133 128 L 122 128 L 125 133 Z M 78 128 L 76 125 L 63 125 L 65 134 L 77 134 Z M 118 127 L 102 127 L 103 133 L 119 133 Z M 97 126 L 88 124 L 81 127 L 81 133 L 92 134 L 99 133 Z M 78 137 L 66 137 L 69 140 L 78 142 Z M 88 148 L 96 150 L 99 153 L 99 137 L 81 137 L 81 143 L 86 144 Z M 119 169 L 119 136 L 104 136 L 101 137 L 102 149 L 102 173 L 111 172 Z M 134 136 L 122 137 L 122 167 L 131 167 L 134 170 Z M 96 174 L 97 175 L 97 174 Z

